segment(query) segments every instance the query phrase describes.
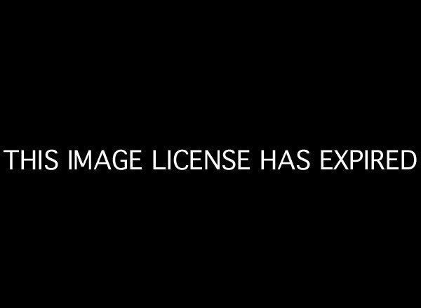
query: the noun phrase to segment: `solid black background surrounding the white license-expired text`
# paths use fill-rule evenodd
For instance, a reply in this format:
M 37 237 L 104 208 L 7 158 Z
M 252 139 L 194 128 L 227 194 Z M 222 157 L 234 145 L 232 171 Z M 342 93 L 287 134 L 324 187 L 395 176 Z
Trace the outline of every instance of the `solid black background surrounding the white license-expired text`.
M 8 289 L 118 302 L 410 293 L 419 167 L 321 172 L 318 153 L 419 155 L 415 20 L 174 9 L 20 8 L 2 38 L 1 149 L 250 148 L 253 171 L 3 169 Z M 309 172 L 258 171 L 260 149 L 300 148 Z

